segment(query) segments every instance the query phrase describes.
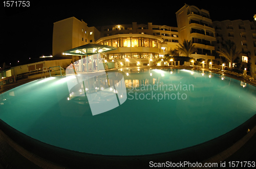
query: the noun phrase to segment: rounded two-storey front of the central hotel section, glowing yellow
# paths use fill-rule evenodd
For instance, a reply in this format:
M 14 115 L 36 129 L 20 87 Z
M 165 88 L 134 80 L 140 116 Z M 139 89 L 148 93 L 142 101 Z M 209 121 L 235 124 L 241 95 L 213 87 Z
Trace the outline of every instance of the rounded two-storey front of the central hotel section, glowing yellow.
M 116 63 L 125 63 L 129 60 L 131 64 L 146 64 L 150 59 L 156 61 L 160 54 L 163 40 L 157 36 L 145 34 L 118 34 L 100 38 L 97 43 L 116 47 L 117 50 L 103 54 L 104 60 Z

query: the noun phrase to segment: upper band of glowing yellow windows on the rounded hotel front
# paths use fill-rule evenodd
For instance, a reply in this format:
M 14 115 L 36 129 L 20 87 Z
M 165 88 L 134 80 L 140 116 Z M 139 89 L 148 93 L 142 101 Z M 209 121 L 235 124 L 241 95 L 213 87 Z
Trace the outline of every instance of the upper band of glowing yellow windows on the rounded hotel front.
M 144 37 L 125 37 L 103 40 L 102 45 L 108 45 L 112 47 L 154 47 L 159 48 L 159 41 L 152 38 Z

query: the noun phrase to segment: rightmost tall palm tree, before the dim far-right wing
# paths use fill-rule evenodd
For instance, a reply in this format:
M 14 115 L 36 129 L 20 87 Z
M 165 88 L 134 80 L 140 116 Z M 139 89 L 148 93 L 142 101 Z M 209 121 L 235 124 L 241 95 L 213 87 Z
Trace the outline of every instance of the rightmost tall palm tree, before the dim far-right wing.
M 221 57 L 226 58 L 230 64 L 231 64 L 231 70 L 233 67 L 233 62 L 234 60 L 236 60 L 237 57 L 239 57 L 239 54 L 241 52 L 237 51 L 237 46 L 236 44 L 234 44 L 234 42 L 230 41 L 230 40 L 225 40 L 224 43 L 222 43 L 222 47 L 220 50 L 216 51 L 217 53 L 219 53 L 219 55 Z

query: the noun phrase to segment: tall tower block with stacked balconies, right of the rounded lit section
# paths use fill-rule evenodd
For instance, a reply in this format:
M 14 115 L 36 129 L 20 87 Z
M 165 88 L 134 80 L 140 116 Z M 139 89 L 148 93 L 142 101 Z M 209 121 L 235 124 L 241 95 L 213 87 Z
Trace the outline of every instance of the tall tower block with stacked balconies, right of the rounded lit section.
M 208 11 L 185 4 L 176 12 L 176 18 L 181 43 L 184 40 L 191 41 L 198 50 L 197 58 L 207 61 L 205 55 L 215 55 L 215 29 Z

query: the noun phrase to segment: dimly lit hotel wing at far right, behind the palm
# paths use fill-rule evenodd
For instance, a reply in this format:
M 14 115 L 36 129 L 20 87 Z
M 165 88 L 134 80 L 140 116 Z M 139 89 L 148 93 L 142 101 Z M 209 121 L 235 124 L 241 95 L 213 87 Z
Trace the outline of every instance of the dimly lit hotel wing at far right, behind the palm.
M 231 40 L 240 51 L 239 61 L 242 61 L 242 67 L 247 67 L 250 62 L 252 73 L 256 72 L 256 30 L 253 21 L 249 20 L 224 20 L 214 21 L 216 30 L 216 50 L 221 48 L 221 43 L 225 40 Z M 248 69 L 248 67 L 247 67 Z

